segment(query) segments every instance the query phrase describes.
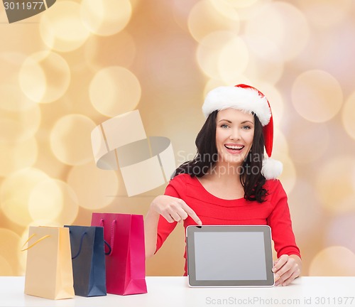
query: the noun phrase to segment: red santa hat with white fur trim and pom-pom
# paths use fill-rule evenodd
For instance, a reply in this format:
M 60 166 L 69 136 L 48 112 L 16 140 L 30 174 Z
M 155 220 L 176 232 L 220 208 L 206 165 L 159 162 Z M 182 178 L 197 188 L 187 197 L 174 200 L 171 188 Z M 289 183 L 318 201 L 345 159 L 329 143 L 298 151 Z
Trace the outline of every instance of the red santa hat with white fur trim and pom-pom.
M 263 158 L 261 173 L 266 179 L 275 179 L 280 176 L 283 171 L 283 164 L 270 158 L 273 151 L 273 114 L 271 113 L 268 99 L 262 92 L 249 85 L 222 86 L 207 94 L 202 106 L 202 112 L 207 118 L 209 114 L 216 110 L 229 108 L 256 114 L 263 126 L 267 154 Z

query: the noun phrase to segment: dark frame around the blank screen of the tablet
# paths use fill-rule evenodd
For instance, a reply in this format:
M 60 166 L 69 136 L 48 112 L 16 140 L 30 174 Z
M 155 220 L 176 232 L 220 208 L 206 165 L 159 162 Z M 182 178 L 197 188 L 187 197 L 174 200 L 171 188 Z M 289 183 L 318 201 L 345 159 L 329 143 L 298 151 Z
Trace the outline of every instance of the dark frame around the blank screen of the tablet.
M 266 257 L 266 280 L 197 280 L 195 266 L 196 232 L 263 232 L 264 252 Z M 187 275 L 190 286 L 273 286 L 273 252 L 271 228 L 267 225 L 202 225 L 186 228 Z

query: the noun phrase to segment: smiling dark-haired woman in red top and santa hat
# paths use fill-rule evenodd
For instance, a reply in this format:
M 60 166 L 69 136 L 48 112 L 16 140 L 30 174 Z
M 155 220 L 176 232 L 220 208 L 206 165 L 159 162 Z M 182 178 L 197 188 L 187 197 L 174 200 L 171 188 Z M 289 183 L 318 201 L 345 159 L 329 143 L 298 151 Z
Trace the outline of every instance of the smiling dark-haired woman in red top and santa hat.
M 185 228 L 269 225 L 278 254 L 275 285 L 287 286 L 300 275 L 302 261 L 287 195 L 276 179 L 282 164 L 268 158 L 273 149 L 268 100 L 249 85 L 217 87 L 202 111 L 207 119 L 197 135 L 195 158 L 175 171 L 165 195 L 153 200 L 146 215 L 146 256 L 158 251 L 177 222 Z

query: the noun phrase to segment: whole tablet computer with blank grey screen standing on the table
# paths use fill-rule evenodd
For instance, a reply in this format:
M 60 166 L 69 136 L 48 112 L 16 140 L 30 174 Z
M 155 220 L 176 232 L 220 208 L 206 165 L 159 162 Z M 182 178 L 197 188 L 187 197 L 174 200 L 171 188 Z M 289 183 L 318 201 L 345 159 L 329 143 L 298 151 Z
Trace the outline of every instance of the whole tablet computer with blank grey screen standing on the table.
M 273 286 L 269 226 L 188 226 L 190 286 Z

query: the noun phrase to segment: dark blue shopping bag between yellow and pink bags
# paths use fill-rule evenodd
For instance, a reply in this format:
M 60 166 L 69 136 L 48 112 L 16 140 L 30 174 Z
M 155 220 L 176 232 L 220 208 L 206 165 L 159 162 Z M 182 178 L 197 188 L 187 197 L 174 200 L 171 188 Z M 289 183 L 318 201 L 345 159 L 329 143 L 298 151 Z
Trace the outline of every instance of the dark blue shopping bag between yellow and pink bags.
M 72 274 L 77 296 L 105 296 L 104 229 L 68 226 L 72 249 Z

